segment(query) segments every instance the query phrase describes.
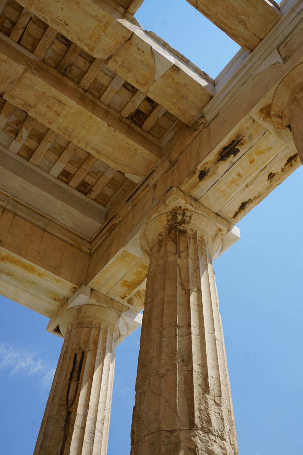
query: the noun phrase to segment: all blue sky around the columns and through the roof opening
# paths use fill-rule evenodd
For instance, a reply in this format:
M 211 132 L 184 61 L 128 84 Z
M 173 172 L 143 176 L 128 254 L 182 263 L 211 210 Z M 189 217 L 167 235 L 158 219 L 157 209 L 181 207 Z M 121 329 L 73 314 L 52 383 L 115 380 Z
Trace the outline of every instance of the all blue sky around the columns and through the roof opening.
M 238 50 L 185 0 L 145 0 L 136 17 L 212 77 Z M 303 455 L 302 186 L 300 167 L 238 223 L 241 240 L 214 263 L 240 455 Z M 30 455 L 62 339 L 40 314 L 0 305 L 0 453 Z M 129 454 L 138 352 L 139 330 L 116 351 L 108 455 Z

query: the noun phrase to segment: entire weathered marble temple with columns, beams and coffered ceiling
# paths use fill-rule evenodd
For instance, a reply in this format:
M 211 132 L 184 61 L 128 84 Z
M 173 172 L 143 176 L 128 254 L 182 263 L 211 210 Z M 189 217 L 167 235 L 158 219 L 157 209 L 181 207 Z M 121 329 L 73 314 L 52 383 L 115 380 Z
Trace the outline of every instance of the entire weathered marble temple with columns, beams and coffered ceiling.
M 213 261 L 303 162 L 303 0 L 187 1 L 216 79 L 143 0 L 0 2 L 0 293 L 64 338 L 35 455 L 106 454 L 141 324 L 131 455 L 238 454 Z

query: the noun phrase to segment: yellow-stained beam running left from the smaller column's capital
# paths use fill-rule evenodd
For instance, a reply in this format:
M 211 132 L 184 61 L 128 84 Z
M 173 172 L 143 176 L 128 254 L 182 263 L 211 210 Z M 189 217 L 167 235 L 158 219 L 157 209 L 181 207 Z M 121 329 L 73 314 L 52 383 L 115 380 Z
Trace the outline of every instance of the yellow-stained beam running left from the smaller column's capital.
M 0 223 L 0 293 L 52 317 L 84 282 L 89 254 L 5 208 Z

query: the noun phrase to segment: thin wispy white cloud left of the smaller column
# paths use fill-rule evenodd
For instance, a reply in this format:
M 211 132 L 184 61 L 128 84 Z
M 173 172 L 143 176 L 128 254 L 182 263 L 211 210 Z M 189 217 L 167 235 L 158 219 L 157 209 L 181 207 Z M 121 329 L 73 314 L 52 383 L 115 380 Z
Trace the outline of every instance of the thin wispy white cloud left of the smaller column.
M 26 349 L 0 344 L 0 372 L 24 378 L 34 377 L 42 389 L 49 389 L 55 368 Z

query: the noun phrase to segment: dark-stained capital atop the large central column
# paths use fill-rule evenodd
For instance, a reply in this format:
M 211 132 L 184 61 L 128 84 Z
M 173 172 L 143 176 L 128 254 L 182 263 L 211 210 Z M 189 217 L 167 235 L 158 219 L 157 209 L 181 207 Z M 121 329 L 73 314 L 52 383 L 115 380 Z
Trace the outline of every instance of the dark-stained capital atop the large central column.
M 237 227 L 178 188 L 171 188 L 166 193 L 149 212 L 146 223 L 141 237 L 141 248 L 146 253 L 162 232 L 173 227 L 199 232 L 208 243 L 214 259 L 240 238 Z

